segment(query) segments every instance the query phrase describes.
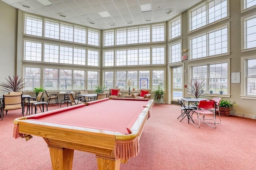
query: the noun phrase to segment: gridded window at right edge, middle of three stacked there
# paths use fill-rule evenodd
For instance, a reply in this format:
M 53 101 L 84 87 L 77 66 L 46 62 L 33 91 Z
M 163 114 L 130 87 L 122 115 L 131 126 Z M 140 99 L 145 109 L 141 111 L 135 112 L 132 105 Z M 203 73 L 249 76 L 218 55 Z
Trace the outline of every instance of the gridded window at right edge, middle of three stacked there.
M 256 14 L 244 18 L 244 41 L 243 49 L 250 49 L 256 47 Z

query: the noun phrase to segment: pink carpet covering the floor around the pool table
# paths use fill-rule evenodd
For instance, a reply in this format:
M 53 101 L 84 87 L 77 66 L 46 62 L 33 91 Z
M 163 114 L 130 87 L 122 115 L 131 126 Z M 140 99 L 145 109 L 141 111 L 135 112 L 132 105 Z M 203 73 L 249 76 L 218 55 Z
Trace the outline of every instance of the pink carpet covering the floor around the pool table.
M 59 107 L 50 105 L 49 110 Z M 140 153 L 120 170 L 256 170 L 256 120 L 228 116 L 221 117 L 216 129 L 197 128 L 187 119 L 180 122 L 179 115 L 179 106 L 155 105 L 140 138 Z M 51 170 L 42 137 L 12 137 L 16 117 L 21 110 L 8 111 L 0 121 L 0 170 Z M 75 150 L 73 170 L 97 170 L 95 155 Z

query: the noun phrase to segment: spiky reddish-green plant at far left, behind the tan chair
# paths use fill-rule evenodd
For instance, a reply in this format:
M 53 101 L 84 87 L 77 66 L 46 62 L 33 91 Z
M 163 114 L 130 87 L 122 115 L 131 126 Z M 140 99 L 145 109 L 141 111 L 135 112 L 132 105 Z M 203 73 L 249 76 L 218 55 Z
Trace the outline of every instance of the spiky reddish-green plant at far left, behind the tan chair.
M 3 92 L 21 92 L 25 87 L 26 83 L 24 83 L 24 78 L 17 76 L 8 76 L 5 78 L 6 82 L 2 82 L 0 86 L 3 87 Z

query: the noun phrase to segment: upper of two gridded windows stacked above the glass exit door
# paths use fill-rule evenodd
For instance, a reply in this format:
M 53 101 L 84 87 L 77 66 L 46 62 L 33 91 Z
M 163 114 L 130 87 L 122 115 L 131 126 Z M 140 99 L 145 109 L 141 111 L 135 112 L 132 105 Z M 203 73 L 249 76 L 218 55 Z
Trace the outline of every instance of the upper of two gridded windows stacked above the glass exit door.
M 169 39 L 178 37 L 181 35 L 181 16 L 174 18 L 169 22 Z

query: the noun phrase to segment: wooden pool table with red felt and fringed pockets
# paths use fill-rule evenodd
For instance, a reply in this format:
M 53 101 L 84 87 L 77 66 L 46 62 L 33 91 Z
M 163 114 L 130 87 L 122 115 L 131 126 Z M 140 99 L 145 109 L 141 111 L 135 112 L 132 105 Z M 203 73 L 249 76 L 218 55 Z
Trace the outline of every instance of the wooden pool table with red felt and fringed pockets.
M 43 137 L 53 170 L 72 169 L 74 150 L 96 155 L 99 170 L 119 170 L 139 152 L 154 100 L 106 98 L 14 120 L 14 137 Z

